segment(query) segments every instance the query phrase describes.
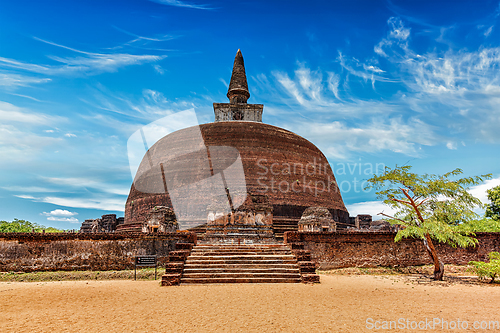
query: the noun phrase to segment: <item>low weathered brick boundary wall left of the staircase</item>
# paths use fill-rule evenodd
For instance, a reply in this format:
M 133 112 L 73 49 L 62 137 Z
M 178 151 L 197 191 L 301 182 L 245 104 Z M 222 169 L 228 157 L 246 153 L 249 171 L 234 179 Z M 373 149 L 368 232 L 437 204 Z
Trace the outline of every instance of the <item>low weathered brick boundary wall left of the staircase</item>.
M 163 266 L 177 243 L 196 244 L 196 234 L 0 233 L 0 271 L 132 269 L 136 255 L 155 254 Z

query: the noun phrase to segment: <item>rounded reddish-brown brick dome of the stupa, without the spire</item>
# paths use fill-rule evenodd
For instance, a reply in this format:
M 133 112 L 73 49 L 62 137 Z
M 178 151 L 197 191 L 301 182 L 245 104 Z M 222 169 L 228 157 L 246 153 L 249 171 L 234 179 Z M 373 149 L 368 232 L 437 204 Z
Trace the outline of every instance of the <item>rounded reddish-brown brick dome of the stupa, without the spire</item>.
M 203 124 L 176 131 L 160 139 L 150 148 L 149 157 L 153 165 L 165 161 L 165 178 L 176 179 L 176 186 L 179 188 L 211 176 L 211 170 L 205 167 L 209 165 L 205 149 L 188 155 L 182 154 L 186 142 L 196 141 L 199 131 L 204 145 L 209 148 L 235 148 L 245 172 L 245 184 L 241 185 L 244 185 L 249 193 L 265 194 L 269 197 L 273 206 L 273 220 L 285 221 L 290 218 L 296 228 L 304 210 L 314 206 L 327 208 L 335 221 L 349 222 L 349 214 L 335 183 L 332 169 L 321 151 L 308 140 L 290 131 L 259 122 Z M 179 157 L 168 160 L 165 154 L 179 154 Z M 213 171 L 220 172 L 234 163 L 238 154 L 230 155 L 211 153 L 211 165 L 220 169 Z M 291 166 L 289 170 L 288 165 Z M 135 180 L 125 206 L 125 225 L 120 228 L 144 220 L 147 212 L 156 205 L 171 207 L 169 195 L 162 193 L 161 168 L 150 168 L 146 158 L 139 170 L 140 176 Z M 152 192 L 155 193 L 146 193 L 141 189 L 154 189 Z M 203 191 L 192 193 L 193 204 L 203 202 L 203 199 L 211 194 Z M 194 209 L 203 211 L 202 207 L 193 206 Z

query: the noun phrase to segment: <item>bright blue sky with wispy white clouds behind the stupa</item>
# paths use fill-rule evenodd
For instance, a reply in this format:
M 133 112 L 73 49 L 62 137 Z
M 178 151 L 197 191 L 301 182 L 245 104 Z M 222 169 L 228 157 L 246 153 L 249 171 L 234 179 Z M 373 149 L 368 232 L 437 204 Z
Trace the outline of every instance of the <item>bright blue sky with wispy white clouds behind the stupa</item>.
M 248 102 L 324 152 L 351 215 L 382 210 L 377 164 L 500 184 L 498 1 L 3 1 L 0 220 L 123 216 L 130 135 L 213 121 L 238 49 Z

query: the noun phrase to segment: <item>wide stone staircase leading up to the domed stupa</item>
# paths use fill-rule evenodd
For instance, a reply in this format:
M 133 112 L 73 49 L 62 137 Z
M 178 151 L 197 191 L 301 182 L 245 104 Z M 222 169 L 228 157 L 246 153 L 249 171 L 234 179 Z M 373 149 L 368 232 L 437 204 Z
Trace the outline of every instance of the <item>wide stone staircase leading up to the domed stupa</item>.
M 292 246 L 282 243 L 213 243 L 192 248 L 186 244 L 170 253 L 162 285 L 318 283 L 315 268 L 308 251 L 292 250 Z

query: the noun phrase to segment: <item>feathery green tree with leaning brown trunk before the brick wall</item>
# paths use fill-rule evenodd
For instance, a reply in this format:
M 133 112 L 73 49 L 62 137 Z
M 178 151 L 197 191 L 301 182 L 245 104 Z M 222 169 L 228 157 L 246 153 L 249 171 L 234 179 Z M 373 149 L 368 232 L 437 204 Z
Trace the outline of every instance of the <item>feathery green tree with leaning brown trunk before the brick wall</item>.
M 382 175 L 374 175 L 368 180 L 367 188 L 378 190 L 377 196 L 396 210 L 394 216 L 383 212 L 379 214 L 389 218 L 391 224 L 401 225 L 394 241 L 398 242 L 403 237 L 422 239 L 434 263 L 434 279 L 442 280 L 444 265 L 432 240 L 453 247 L 477 244 L 472 231 L 458 226 L 478 218 L 473 209 L 480 206 L 481 201 L 467 190 L 491 178 L 491 175 L 452 180 L 462 174 L 462 170 L 420 176 L 411 173 L 410 169 L 411 166 L 386 167 Z

